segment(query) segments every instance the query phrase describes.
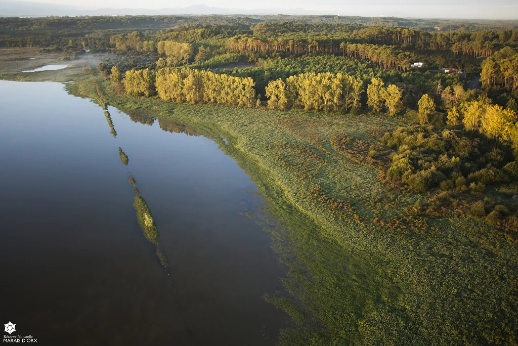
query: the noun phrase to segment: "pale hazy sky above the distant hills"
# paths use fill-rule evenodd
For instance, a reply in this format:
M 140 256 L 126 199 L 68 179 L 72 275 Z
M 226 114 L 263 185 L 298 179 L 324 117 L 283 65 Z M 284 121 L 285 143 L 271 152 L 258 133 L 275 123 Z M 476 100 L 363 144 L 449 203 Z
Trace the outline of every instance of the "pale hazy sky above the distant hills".
M 422 18 L 518 19 L 518 0 L 30 0 L 71 5 L 81 9 L 171 8 L 204 4 L 222 8 L 304 8 L 343 16 L 397 16 Z M 289 14 L 289 13 L 285 13 Z

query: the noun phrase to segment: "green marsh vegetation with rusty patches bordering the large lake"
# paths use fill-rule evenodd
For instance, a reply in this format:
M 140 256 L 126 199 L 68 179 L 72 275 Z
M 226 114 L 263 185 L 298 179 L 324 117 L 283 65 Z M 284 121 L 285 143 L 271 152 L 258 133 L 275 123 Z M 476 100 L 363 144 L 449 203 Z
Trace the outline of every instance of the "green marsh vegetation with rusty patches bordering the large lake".
M 291 296 L 265 299 L 298 325 L 281 344 L 518 344 L 516 239 L 474 219 L 413 216 L 406 208 L 426 196 L 380 179 L 378 138 L 408 119 L 178 105 L 89 76 L 69 92 L 97 99 L 97 81 L 132 119 L 214 139 L 256 182 L 289 268 Z M 337 145 L 344 134 L 350 147 Z

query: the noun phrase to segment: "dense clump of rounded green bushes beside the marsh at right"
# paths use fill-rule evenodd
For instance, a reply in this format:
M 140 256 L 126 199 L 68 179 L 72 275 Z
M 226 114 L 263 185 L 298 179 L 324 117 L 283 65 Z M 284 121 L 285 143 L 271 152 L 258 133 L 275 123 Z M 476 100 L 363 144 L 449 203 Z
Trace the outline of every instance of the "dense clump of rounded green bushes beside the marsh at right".
M 382 142 L 397 150 L 387 177 L 407 183 L 416 192 L 433 190 L 441 182 L 442 190 L 455 185 L 462 191 L 467 181 L 480 194 L 485 184 L 516 179 L 509 173 L 514 167 L 511 148 L 492 149 L 480 134 L 468 137 L 459 129 L 409 126 L 386 133 Z

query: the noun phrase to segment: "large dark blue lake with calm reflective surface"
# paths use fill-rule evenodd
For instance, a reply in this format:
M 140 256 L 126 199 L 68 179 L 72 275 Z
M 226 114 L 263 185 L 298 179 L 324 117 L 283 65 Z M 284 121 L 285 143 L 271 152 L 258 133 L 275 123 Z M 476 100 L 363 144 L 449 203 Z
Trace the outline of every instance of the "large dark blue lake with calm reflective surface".
M 38 344 L 275 344 L 286 316 L 262 295 L 283 272 L 244 215 L 262 199 L 233 158 L 110 107 L 113 137 L 103 110 L 60 83 L 0 81 L 0 93 L 3 324 Z M 128 170 L 170 276 L 137 224 Z

